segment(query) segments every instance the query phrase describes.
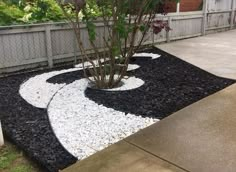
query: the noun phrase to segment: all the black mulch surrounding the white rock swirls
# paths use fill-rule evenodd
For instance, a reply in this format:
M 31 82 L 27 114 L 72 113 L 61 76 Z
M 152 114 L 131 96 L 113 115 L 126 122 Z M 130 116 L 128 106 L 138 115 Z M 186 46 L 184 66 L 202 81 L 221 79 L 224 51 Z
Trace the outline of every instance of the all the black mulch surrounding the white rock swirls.
M 162 55 L 156 60 L 135 58 L 132 63 L 141 68 L 129 72 L 145 81 L 137 89 L 110 92 L 87 89 L 86 96 L 98 104 L 126 113 L 164 118 L 233 83 L 216 77 L 157 48 L 146 50 Z M 48 171 L 63 169 L 76 161 L 53 134 L 45 109 L 35 108 L 19 95 L 20 84 L 41 72 L 0 79 L 0 119 L 4 133 L 29 156 Z M 70 72 L 48 80 L 51 83 L 71 83 L 82 77 L 82 71 Z

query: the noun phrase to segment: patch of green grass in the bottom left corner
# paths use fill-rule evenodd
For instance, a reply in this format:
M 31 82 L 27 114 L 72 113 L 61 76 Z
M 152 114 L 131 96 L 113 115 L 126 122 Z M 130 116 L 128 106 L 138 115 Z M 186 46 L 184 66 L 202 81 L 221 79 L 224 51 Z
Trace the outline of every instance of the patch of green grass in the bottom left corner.
M 0 147 L 1 172 L 43 172 L 35 163 L 29 160 L 21 150 L 6 143 Z

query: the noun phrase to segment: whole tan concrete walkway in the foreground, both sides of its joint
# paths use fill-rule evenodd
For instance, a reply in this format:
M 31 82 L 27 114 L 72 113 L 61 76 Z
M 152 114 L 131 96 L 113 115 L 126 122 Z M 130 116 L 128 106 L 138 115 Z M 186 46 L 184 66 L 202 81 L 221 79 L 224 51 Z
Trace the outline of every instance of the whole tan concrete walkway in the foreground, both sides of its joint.
M 236 84 L 64 172 L 235 172 Z

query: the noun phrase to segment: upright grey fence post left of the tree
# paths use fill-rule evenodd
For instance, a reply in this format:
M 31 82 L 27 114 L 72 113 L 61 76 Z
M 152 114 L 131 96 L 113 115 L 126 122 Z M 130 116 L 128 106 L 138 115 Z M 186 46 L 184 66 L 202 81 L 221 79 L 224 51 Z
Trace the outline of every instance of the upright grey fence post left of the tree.
M 52 40 L 51 40 L 51 29 L 50 29 L 50 26 L 46 26 L 45 36 L 46 36 L 45 39 L 46 39 L 48 66 L 50 68 L 52 68 L 53 67 L 53 57 L 52 57 Z

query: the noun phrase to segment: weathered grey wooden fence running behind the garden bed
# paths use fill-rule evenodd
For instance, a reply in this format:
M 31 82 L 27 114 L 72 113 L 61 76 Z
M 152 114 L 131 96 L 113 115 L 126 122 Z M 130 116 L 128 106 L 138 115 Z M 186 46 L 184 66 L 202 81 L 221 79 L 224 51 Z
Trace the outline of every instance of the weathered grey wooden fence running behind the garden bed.
M 178 9 L 178 8 L 177 8 Z M 162 16 L 156 16 L 163 18 Z M 159 35 L 151 32 L 145 44 L 205 35 L 236 28 L 236 0 L 204 0 L 203 10 L 170 13 L 172 30 Z M 97 34 L 103 34 L 103 24 L 96 22 Z M 86 29 L 84 28 L 84 32 Z M 87 34 L 84 42 L 89 45 Z M 97 44 L 103 44 L 102 36 Z M 36 67 L 53 67 L 79 57 L 74 33 L 66 23 L 0 27 L 0 74 Z

